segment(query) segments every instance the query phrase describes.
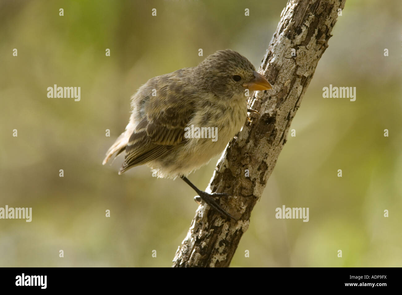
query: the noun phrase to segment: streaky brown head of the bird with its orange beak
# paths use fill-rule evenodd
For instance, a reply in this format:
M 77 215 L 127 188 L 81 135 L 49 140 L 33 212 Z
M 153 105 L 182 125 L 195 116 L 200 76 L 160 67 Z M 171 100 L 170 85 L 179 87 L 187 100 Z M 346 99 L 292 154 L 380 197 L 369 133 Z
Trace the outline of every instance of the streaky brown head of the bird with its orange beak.
M 230 49 L 219 50 L 205 58 L 195 68 L 194 75 L 197 87 L 222 98 L 244 95 L 245 89 L 272 89 L 247 58 Z

